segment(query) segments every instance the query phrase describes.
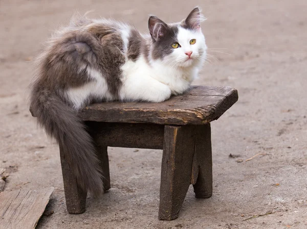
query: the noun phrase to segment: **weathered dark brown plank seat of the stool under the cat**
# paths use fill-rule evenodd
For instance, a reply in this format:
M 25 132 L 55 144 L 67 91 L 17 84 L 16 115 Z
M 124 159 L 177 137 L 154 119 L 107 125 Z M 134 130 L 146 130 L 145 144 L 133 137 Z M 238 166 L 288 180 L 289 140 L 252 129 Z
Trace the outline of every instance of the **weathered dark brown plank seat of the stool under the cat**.
M 205 124 L 220 117 L 238 99 L 231 87 L 193 86 L 162 103 L 98 103 L 77 115 L 84 121 Z

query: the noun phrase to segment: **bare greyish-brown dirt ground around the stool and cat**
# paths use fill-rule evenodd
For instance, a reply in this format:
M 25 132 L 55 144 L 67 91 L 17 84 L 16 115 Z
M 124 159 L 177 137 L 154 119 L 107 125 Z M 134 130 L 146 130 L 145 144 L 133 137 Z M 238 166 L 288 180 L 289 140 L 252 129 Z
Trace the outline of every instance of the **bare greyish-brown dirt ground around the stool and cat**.
M 112 188 L 68 214 L 59 150 L 28 111 L 31 60 L 74 10 L 134 23 L 167 22 L 194 6 L 212 64 L 195 85 L 228 85 L 238 102 L 211 123 L 213 195 L 187 193 L 179 218 L 158 220 L 161 150 L 109 148 Z M 307 228 L 307 1 L 0 0 L 0 168 L 5 191 L 54 186 L 37 228 Z M 218 52 L 213 52 L 218 51 Z M 220 53 L 223 52 L 223 53 Z M 224 54 L 226 53 L 226 54 Z M 229 54 L 229 55 L 228 55 Z M 245 161 L 256 154 L 250 161 Z M 237 155 L 230 158 L 229 154 Z M 242 163 L 236 160 L 242 159 Z M 265 214 L 246 221 L 253 215 Z

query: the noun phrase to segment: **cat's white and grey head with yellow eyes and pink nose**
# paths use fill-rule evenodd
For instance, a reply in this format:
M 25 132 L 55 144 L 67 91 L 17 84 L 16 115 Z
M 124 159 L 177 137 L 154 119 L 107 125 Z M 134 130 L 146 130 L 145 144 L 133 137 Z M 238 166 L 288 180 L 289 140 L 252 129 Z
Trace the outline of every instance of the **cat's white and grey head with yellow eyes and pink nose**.
M 172 67 L 190 67 L 202 63 L 207 49 L 200 25 L 203 18 L 198 7 L 179 23 L 167 24 L 156 16 L 150 16 L 151 57 L 154 60 L 161 59 Z

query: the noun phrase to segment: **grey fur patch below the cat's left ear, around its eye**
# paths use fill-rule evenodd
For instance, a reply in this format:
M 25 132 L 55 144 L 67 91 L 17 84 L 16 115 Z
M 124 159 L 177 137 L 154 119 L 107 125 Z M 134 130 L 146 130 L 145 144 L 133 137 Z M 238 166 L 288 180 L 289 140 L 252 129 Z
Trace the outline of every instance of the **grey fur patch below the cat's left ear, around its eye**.
M 164 34 L 157 41 L 152 40 L 152 59 L 163 59 L 163 57 L 172 53 L 173 48 L 171 44 L 177 41 L 178 27 L 167 26 Z

